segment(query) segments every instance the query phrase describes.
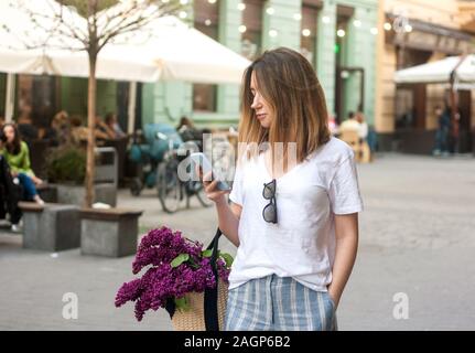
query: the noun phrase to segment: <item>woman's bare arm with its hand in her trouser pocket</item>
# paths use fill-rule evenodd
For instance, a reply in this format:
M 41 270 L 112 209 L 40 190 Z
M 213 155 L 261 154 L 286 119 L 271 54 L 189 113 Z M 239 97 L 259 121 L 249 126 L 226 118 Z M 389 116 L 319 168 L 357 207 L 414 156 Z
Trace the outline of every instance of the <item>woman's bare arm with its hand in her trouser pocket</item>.
M 335 215 L 336 254 L 328 295 L 338 306 L 343 289 L 352 274 L 358 249 L 358 214 Z

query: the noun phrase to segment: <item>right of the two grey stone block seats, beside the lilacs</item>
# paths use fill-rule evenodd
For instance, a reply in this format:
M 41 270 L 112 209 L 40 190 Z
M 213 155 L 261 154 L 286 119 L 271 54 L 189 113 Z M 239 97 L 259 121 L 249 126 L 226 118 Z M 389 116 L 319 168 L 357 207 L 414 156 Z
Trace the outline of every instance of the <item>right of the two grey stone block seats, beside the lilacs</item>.
M 142 211 L 127 208 L 82 208 L 83 255 L 122 257 L 137 252 Z

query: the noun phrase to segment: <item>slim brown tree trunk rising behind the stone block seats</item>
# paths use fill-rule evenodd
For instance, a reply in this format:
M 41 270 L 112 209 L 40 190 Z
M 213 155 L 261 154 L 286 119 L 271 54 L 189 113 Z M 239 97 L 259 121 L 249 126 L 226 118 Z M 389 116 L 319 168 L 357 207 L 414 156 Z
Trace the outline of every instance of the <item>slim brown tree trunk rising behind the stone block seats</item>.
M 87 88 L 87 162 L 86 162 L 86 200 L 85 206 L 90 207 L 94 202 L 94 168 L 96 138 L 96 62 L 97 56 L 89 54 L 89 81 Z

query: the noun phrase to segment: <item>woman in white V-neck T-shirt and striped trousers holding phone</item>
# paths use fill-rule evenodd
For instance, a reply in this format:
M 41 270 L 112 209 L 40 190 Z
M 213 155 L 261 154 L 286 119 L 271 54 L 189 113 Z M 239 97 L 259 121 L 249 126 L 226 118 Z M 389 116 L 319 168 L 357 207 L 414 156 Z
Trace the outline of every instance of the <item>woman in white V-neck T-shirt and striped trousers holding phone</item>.
M 241 99 L 231 204 L 202 175 L 238 247 L 225 329 L 336 330 L 363 210 L 353 150 L 331 137 L 315 72 L 292 50 L 257 58 Z

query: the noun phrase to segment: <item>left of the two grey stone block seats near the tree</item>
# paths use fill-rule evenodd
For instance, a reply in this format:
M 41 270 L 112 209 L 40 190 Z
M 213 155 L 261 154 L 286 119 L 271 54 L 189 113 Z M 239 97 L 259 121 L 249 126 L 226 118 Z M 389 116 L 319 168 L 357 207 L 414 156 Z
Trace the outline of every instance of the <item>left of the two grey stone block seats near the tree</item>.
M 79 247 L 79 207 L 67 204 L 20 202 L 23 247 L 60 252 Z

